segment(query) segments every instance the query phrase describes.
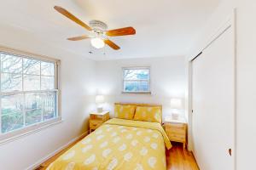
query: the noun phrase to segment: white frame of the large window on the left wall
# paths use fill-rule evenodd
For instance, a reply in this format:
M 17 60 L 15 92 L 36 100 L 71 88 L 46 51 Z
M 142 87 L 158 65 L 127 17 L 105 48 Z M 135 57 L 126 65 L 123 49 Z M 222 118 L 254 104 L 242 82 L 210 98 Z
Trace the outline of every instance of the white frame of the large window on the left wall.
M 6 48 L 6 47 L 1 47 L 0 46 L 0 53 L 4 54 L 13 54 L 15 56 L 20 56 L 23 58 L 28 58 L 28 59 L 37 59 L 41 61 L 46 61 L 46 62 L 53 62 L 55 63 L 55 89 L 53 90 L 35 90 L 35 91 L 20 91 L 20 92 L 0 92 L 0 113 L 2 111 L 1 109 L 1 97 L 3 94 L 26 94 L 26 93 L 32 93 L 32 92 L 38 92 L 38 93 L 43 93 L 43 92 L 55 92 L 56 93 L 56 116 L 52 119 L 49 119 L 44 122 L 37 122 L 32 125 L 26 126 L 26 127 L 21 127 L 18 129 L 15 129 L 13 131 L 7 132 L 7 133 L 2 133 L 2 130 L 0 129 L 0 144 L 19 139 L 22 136 L 26 136 L 30 133 L 36 133 L 41 129 L 44 129 L 45 127 L 49 127 L 52 125 L 55 125 L 56 123 L 62 122 L 61 118 L 61 77 L 60 77 L 60 71 L 61 71 L 61 60 L 60 59 L 53 59 L 49 58 L 44 55 L 39 55 L 39 54 L 32 54 L 24 51 L 20 51 L 17 49 L 13 48 Z M 0 74 L 0 80 L 1 80 L 1 74 Z M 0 128 L 2 128 L 2 116 L 0 114 Z

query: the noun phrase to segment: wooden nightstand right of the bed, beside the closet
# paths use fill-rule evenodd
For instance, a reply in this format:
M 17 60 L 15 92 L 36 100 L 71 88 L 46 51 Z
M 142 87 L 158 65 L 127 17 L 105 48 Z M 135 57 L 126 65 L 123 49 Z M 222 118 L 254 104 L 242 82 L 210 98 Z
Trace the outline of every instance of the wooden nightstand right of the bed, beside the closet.
M 187 122 L 184 119 L 173 120 L 172 117 L 165 119 L 166 134 L 173 142 L 183 143 L 183 149 L 187 143 Z

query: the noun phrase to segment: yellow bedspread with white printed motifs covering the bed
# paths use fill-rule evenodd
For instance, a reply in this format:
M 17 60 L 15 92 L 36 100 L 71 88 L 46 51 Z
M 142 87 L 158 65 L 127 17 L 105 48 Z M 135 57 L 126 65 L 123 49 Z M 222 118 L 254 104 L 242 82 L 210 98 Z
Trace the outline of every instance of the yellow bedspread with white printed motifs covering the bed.
M 166 170 L 170 143 L 157 122 L 111 119 L 67 150 L 48 170 Z

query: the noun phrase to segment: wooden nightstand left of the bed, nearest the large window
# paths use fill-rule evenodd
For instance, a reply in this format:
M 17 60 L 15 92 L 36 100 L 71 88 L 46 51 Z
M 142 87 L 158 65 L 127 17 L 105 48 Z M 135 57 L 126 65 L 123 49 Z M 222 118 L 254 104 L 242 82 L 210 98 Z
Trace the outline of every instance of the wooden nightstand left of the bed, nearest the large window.
M 94 131 L 97 127 L 100 127 L 103 122 L 108 121 L 108 119 L 109 111 L 102 111 L 100 113 L 90 113 L 90 133 Z

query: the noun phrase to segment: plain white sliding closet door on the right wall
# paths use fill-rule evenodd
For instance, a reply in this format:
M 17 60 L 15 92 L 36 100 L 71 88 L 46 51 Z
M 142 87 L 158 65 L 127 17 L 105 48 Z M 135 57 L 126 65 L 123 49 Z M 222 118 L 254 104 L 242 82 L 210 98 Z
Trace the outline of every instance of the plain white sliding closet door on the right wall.
M 232 170 L 235 56 L 232 28 L 192 61 L 192 138 L 202 170 Z

